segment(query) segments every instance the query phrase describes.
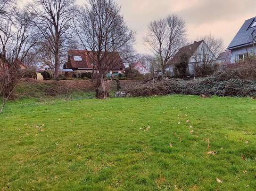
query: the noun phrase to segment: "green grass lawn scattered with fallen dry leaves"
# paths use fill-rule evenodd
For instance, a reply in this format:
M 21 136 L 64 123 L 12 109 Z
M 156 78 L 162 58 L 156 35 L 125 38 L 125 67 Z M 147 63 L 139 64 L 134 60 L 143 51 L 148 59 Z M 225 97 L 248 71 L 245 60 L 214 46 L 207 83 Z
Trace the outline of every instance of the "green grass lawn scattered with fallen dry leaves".
M 256 190 L 256 100 L 10 101 L 0 115 L 1 188 Z

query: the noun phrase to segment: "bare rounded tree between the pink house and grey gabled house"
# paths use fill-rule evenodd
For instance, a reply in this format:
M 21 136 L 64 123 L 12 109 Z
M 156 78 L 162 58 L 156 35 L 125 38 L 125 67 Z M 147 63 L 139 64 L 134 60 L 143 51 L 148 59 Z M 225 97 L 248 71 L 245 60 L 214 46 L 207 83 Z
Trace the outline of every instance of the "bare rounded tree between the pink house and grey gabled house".
M 148 34 L 144 39 L 145 46 L 155 56 L 159 56 L 163 75 L 167 62 L 184 45 L 186 31 L 184 20 L 177 15 L 168 15 L 165 19 L 149 23 Z

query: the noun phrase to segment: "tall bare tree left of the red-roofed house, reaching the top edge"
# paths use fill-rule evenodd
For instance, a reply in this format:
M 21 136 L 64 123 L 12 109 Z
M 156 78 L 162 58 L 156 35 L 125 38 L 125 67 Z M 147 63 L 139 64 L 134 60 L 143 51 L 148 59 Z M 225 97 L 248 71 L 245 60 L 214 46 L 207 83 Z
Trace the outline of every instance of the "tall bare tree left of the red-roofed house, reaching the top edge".
M 35 17 L 33 23 L 41 35 L 42 49 L 54 57 L 55 78 L 58 78 L 61 56 L 67 53 L 74 41 L 72 21 L 77 15 L 74 3 L 74 0 L 34 0 L 30 7 Z

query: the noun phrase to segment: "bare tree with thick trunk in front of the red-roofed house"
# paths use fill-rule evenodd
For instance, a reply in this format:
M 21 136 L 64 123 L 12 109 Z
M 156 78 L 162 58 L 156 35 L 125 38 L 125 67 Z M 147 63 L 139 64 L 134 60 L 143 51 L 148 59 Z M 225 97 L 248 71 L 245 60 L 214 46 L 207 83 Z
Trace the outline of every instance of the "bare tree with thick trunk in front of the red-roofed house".
M 108 90 L 104 78 L 123 62 L 118 54 L 133 43 L 135 33 L 127 27 L 113 0 L 88 0 L 81 8 L 76 29 L 83 47 L 91 51 L 90 61 L 99 73 L 96 96 L 105 99 Z

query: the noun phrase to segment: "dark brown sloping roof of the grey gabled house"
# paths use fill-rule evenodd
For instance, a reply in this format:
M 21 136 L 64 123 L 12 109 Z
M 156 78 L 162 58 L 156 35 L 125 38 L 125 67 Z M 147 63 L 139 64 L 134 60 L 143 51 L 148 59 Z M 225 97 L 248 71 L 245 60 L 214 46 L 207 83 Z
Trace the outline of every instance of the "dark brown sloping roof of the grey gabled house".
M 175 56 L 173 57 L 173 59 L 171 59 L 170 61 L 168 61 L 167 65 L 171 65 L 174 63 L 177 63 L 180 59 L 180 57 L 182 56 L 182 54 L 187 54 L 188 57 L 190 58 L 198 49 L 198 46 L 203 42 L 204 40 L 200 40 L 200 41 L 195 41 L 193 44 L 188 45 L 188 46 L 183 46 L 182 48 L 180 48 L 180 50 L 175 54 Z

